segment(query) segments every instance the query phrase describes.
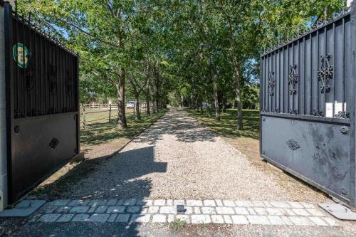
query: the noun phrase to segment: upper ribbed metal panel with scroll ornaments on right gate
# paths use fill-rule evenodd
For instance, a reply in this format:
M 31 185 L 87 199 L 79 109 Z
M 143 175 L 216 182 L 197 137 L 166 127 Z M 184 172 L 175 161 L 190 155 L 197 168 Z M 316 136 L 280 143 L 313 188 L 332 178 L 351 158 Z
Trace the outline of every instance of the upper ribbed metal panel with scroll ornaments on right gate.
M 263 55 L 261 80 L 267 85 L 262 90 L 263 112 L 335 117 L 347 111 L 345 95 L 352 91 L 350 85 L 345 86 L 345 73 L 347 78 L 347 73 L 352 72 L 345 64 L 351 60 L 350 31 L 347 13 Z M 324 86 L 318 77 L 320 71 L 331 72 Z M 288 83 L 288 75 L 296 78 L 293 85 Z

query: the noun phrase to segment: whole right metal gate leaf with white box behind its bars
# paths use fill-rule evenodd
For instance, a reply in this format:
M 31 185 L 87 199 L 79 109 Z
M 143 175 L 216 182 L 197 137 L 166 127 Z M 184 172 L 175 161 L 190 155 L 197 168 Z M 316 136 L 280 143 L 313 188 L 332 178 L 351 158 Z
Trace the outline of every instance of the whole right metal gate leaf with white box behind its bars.
M 351 206 L 355 16 L 352 6 L 261 56 L 261 157 Z

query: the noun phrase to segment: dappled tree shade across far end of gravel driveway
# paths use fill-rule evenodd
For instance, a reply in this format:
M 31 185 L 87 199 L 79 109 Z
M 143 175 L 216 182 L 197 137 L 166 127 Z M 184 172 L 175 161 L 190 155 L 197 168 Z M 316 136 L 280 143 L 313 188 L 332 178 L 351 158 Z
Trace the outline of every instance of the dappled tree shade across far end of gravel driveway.
M 179 112 L 181 113 L 168 112 L 152 126 L 151 130 L 140 135 L 136 141 L 153 145 L 161 140 L 163 135 L 175 135 L 179 142 L 214 142 L 216 140 L 216 135 L 213 132 L 201 127 L 199 122 L 185 114 L 184 110 L 179 110 Z M 185 115 L 182 115 L 182 112 Z

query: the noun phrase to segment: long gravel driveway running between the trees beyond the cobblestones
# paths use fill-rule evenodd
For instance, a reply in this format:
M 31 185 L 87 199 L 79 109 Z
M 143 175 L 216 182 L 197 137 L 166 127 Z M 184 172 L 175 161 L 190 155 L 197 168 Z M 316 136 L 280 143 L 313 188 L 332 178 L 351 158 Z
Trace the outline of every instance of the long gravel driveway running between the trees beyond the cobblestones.
M 281 175 L 254 167 L 180 109 L 169 110 L 115 157 L 95 165 L 63 197 L 325 201 L 299 182 L 281 185 Z

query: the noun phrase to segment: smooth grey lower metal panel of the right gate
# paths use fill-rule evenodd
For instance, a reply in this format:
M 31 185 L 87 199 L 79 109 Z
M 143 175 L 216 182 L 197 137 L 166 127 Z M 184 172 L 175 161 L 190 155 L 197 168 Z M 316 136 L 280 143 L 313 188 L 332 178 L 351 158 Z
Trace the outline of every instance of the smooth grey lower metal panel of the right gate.
M 345 147 L 350 147 L 351 136 L 342 134 L 345 127 L 349 129 L 333 123 L 263 115 L 262 156 L 349 201 L 350 149 Z

